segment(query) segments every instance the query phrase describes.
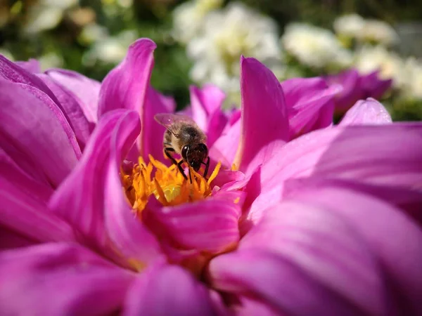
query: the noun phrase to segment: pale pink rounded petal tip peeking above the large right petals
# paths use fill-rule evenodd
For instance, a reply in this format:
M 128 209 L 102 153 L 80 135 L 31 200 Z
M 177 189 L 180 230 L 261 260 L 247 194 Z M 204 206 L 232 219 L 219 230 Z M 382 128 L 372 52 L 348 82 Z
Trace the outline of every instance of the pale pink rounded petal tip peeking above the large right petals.
M 376 125 L 391 123 L 390 114 L 381 103 L 373 98 L 359 100 L 340 121 L 339 126 Z

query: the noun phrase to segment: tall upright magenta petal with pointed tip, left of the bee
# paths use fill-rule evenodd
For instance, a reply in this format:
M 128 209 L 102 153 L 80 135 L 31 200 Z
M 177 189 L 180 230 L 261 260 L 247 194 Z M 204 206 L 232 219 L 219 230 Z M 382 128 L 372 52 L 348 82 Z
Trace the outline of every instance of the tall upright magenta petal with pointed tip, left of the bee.
M 143 116 L 155 47 L 150 39 L 138 39 L 129 46 L 126 58 L 103 80 L 98 117 L 115 109 L 136 110 Z

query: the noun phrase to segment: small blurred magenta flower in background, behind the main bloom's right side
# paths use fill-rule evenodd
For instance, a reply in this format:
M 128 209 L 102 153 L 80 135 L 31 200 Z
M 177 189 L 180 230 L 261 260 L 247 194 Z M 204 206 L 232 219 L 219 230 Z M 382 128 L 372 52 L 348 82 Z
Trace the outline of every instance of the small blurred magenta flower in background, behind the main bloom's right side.
M 357 102 L 365 98 L 381 98 L 392 84 L 392 79 L 383 80 L 378 72 L 361 75 L 357 70 L 350 69 L 326 78 L 328 84 L 343 86 L 343 90 L 335 98 L 335 112 L 344 114 Z

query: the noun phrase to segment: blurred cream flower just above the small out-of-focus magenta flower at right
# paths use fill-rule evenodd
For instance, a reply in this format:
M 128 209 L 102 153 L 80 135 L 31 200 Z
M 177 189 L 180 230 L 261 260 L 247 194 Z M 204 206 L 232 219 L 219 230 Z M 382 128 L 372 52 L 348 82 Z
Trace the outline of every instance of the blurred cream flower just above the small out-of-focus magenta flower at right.
M 379 70 L 382 79 L 392 79 L 395 88 L 403 88 L 408 80 L 404 61 L 384 46 L 364 46 L 356 53 L 355 66 L 363 74 Z

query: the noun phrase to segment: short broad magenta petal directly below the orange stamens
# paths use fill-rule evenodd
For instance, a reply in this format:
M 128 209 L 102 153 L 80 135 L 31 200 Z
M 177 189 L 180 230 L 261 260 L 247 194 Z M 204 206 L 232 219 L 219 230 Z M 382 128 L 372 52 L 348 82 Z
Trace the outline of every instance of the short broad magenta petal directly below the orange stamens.
M 237 203 L 235 202 L 237 199 Z M 178 249 L 218 253 L 239 240 L 243 192 L 219 192 L 203 201 L 150 207 L 146 223 L 160 240 Z

